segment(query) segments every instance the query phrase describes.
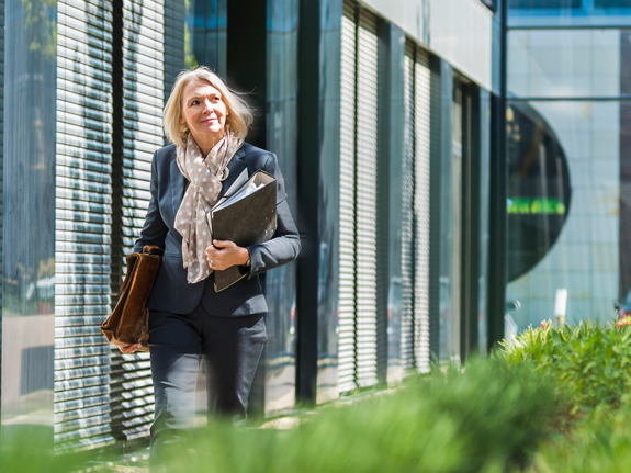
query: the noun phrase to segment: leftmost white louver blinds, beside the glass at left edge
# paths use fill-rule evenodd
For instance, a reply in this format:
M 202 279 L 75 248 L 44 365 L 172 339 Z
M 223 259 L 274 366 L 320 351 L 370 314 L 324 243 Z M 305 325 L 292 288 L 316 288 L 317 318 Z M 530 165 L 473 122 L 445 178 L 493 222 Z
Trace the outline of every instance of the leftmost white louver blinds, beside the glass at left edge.
M 99 330 L 110 312 L 112 8 L 61 0 L 57 19 L 56 262 L 37 290 L 55 288 L 55 444 L 64 450 L 114 441 L 110 346 Z

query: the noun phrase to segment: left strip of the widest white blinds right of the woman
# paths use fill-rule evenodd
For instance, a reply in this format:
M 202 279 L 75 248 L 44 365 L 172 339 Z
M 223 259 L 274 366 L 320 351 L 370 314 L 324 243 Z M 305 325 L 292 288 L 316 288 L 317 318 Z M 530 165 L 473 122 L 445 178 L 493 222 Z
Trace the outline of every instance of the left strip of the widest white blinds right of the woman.
M 354 8 L 345 2 L 341 20 L 341 129 L 339 222 L 339 390 L 354 383 L 354 126 L 356 126 L 356 22 Z

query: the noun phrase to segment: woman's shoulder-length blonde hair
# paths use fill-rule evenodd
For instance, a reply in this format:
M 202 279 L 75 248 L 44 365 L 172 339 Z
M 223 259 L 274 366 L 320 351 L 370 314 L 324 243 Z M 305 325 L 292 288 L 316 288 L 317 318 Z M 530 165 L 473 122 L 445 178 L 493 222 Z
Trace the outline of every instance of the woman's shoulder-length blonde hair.
M 237 138 L 245 138 L 252 124 L 252 112 L 247 102 L 222 80 L 219 76 L 211 71 L 205 66 L 200 66 L 189 70 L 182 70 L 176 78 L 171 94 L 162 112 L 162 124 L 167 139 L 176 145 L 184 146 L 189 136 L 189 127 L 181 123 L 182 117 L 182 93 L 192 80 L 209 82 L 222 93 L 222 100 L 228 110 L 226 117 L 226 129 L 230 131 Z

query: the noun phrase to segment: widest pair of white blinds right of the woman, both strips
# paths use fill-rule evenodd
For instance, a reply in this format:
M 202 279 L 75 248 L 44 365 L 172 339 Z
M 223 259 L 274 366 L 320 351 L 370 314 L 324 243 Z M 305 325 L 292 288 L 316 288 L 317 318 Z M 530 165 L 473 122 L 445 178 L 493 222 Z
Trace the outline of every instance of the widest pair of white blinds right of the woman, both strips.
M 343 5 L 339 390 L 376 384 L 376 20 Z

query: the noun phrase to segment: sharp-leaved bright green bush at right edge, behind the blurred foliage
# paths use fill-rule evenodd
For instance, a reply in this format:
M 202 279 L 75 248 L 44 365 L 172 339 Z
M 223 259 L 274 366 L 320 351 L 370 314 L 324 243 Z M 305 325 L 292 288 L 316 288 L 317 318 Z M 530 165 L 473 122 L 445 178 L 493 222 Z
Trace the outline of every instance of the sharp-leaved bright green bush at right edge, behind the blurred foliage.
M 574 408 L 618 405 L 630 398 L 631 327 L 587 320 L 575 327 L 547 324 L 503 344 L 495 352 L 510 367 L 529 364 L 551 374 Z

